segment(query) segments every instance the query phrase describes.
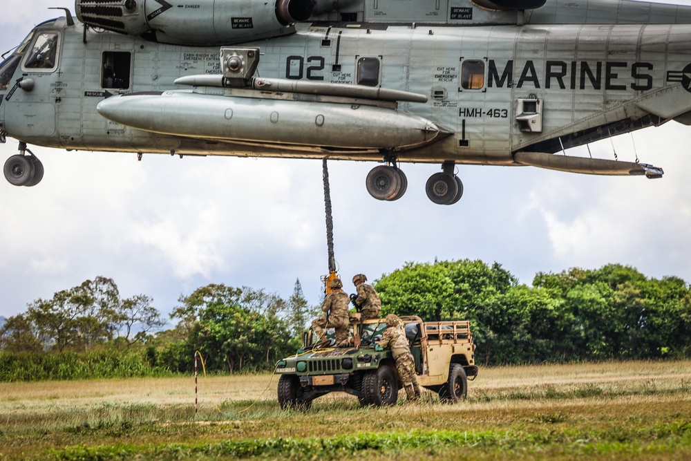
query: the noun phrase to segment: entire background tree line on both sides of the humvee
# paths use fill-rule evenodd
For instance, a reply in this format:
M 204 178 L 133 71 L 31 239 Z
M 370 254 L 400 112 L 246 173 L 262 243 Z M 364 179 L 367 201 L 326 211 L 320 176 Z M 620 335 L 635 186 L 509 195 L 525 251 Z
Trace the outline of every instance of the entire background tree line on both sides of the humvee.
M 625 265 L 538 272 L 528 286 L 498 263 L 408 263 L 373 285 L 383 317 L 470 320 L 479 364 L 691 355 L 689 285 Z M 0 328 L 0 380 L 100 376 L 95 369 L 123 376 L 189 372 L 197 350 L 207 370 L 271 370 L 300 347 L 319 312 L 299 280 L 288 299 L 210 284 L 178 301 L 170 313 L 175 326 L 165 330 L 150 297 L 122 299 L 105 277 L 32 301 Z M 12 374 L 3 375 L 8 368 Z

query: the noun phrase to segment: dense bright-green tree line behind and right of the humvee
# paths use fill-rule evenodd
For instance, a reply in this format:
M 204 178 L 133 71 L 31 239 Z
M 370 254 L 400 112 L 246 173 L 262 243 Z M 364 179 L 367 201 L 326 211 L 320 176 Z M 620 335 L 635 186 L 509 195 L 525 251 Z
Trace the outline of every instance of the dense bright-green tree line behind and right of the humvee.
M 498 263 L 408 263 L 375 288 L 382 314 L 470 320 L 484 365 L 691 355 L 688 283 L 625 265 L 538 272 L 529 287 Z

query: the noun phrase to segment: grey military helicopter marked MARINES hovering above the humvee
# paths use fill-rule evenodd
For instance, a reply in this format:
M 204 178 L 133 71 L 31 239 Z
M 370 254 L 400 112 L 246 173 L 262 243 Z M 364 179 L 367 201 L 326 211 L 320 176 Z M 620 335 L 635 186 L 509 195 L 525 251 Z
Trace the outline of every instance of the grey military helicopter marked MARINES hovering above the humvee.
M 631 0 L 76 0 L 0 64 L 3 172 L 44 174 L 27 144 L 179 156 L 437 163 L 641 175 L 565 149 L 691 124 L 691 7 Z

